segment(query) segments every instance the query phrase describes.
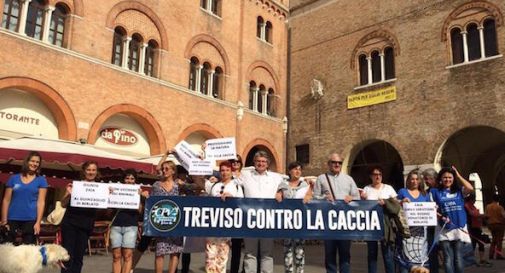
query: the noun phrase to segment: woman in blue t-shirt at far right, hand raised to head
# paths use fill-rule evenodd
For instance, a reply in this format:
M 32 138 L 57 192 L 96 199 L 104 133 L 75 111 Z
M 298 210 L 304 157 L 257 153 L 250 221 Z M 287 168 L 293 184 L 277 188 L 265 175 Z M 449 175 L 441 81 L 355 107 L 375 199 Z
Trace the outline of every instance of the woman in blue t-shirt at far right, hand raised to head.
M 470 243 L 463 196 L 473 191 L 473 186 L 453 166 L 438 173 L 440 186 L 431 189 L 445 227 L 440 231 L 440 247 L 444 253 L 446 273 L 462 273 L 463 243 Z M 459 183 L 458 183 L 459 182 Z M 461 185 L 460 185 L 461 184 Z

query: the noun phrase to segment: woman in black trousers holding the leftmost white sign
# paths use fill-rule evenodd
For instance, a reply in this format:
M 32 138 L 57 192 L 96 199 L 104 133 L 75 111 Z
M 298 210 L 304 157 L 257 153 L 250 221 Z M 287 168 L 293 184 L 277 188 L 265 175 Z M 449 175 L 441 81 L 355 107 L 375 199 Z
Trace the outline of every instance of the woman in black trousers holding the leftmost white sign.
M 98 164 L 95 161 L 86 161 L 82 164 L 82 180 L 97 182 L 98 177 Z M 67 208 L 61 221 L 61 245 L 70 255 L 70 260 L 65 263 L 65 268 L 61 269 L 61 273 L 81 272 L 82 260 L 88 246 L 88 238 L 95 225 L 96 209 L 73 207 L 70 204 L 71 194 L 72 183 L 67 185 L 67 192 L 61 200 L 62 207 Z

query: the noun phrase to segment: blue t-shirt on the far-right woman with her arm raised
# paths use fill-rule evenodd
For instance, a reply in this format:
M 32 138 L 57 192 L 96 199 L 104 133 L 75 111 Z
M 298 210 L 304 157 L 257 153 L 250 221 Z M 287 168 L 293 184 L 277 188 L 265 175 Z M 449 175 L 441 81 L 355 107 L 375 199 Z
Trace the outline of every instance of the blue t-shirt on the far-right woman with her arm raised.
M 449 189 L 430 189 L 430 193 L 443 216 L 451 221 L 446 228 L 457 229 L 466 225 L 465 199 L 463 190 L 451 193 Z

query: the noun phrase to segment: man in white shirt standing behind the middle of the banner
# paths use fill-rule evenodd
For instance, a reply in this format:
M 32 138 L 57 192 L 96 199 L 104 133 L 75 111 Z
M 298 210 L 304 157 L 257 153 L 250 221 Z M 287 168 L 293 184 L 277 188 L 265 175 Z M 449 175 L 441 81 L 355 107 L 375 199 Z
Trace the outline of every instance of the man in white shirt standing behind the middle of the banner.
M 254 170 L 243 172 L 238 179 L 244 187 L 244 197 L 247 198 L 267 198 L 274 199 L 275 194 L 282 183 L 282 176 L 269 172 L 268 165 L 270 158 L 264 151 L 259 151 L 254 155 Z M 244 254 L 245 273 L 257 272 L 257 257 L 259 252 L 262 273 L 274 272 L 274 258 L 272 250 L 274 248 L 273 239 L 246 238 Z

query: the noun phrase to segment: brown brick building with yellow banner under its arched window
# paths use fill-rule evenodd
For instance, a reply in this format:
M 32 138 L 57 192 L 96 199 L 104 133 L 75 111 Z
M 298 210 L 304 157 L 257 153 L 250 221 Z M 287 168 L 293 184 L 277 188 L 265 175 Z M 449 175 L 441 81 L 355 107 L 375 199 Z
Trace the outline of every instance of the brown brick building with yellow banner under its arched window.
M 403 186 L 420 167 L 478 173 L 505 191 L 505 2 L 314 1 L 290 6 L 288 161 L 330 151 Z

